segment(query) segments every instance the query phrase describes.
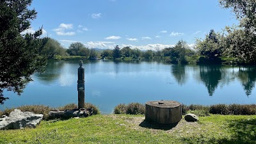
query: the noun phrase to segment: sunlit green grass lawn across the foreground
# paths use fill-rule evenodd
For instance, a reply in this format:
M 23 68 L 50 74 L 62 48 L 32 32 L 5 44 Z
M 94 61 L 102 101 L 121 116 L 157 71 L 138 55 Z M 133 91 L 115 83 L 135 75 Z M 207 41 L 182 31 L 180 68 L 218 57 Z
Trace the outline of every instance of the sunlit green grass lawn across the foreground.
M 0 143 L 256 143 L 256 115 L 211 115 L 199 122 L 148 124 L 143 115 L 94 115 L 0 131 Z

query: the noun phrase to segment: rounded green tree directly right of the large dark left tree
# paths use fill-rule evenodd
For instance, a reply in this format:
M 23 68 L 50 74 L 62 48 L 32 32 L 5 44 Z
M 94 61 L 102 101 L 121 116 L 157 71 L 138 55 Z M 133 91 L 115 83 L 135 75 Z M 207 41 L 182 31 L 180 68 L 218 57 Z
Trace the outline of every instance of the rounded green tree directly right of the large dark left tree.
M 47 43 L 44 45 L 42 54 L 46 55 L 47 59 L 52 59 L 55 55 L 64 56 L 65 49 L 57 40 L 48 38 Z

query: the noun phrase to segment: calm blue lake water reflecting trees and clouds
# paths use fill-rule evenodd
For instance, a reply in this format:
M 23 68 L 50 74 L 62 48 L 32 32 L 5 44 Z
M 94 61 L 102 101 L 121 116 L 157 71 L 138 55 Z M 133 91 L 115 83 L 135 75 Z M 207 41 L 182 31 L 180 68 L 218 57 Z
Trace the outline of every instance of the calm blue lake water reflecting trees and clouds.
M 256 67 L 170 65 L 159 61 L 84 61 L 85 101 L 112 113 L 117 104 L 149 100 L 177 100 L 183 104 L 256 103 Z M 79 61 L 50 61 L 44 74 L 19 97 L 10 97 L 0 109 L 28 104 L 51 107 L 77 104 Z

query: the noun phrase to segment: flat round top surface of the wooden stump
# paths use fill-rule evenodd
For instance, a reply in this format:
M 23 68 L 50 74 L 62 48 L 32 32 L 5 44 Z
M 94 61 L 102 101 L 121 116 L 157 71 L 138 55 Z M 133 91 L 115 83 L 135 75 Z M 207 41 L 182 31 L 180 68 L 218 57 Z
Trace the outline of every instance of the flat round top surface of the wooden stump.
M 180 102 L 176 102 L 173 100 L 156 100 L 156 101 L 146 102 L 146 105 L 154 106 L 158 108 L 175 108 L 180 106 Z

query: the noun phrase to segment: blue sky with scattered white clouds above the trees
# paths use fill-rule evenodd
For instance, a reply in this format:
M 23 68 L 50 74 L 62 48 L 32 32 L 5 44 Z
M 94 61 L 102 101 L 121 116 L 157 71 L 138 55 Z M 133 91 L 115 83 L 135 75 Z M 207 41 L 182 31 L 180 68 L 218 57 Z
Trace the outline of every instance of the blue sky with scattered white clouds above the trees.
M 43 26 L 44 36 L 65 48 L 82 42 L 89 48 L 155 50 L 181 39 L 193 45 L 211 29 L 238 23 L 218 0 L 33 0 L 31 8 L 38 15 L 29 31 Z

